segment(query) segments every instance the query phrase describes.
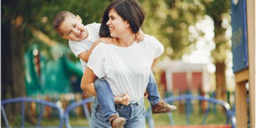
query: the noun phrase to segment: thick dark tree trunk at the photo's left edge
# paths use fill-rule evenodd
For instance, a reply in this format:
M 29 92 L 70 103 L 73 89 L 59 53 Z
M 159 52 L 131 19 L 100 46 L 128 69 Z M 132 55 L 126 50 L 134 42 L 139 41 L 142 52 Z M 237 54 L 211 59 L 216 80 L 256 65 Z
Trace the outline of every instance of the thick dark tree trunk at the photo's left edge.
M 24 82 L 24 42 L 22 17 L 2 24 L 2 100 L 26 95 Z M 8 104 L 5 112 L 10 121 L 21 114 L 21 104 Z

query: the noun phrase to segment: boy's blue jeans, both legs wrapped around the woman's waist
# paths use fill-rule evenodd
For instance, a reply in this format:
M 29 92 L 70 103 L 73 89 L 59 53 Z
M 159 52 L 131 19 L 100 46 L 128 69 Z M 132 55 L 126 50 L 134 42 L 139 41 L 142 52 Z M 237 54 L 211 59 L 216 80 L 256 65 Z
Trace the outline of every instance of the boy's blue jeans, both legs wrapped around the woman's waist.
M 104 119 L 107 121 L 112 114 L 118 114 L 117 111 L 115 111 L 112 90 L 106 80 L 98 78 L 95 80 L 95 90 L 99 105 L 102 108 Z M 151 105 L 155 105 L 159 102 L 160 96 L 152 71 L 150 72 L 149 83 L 147 84 L 147 93 L 149 94 L 147 99 Z

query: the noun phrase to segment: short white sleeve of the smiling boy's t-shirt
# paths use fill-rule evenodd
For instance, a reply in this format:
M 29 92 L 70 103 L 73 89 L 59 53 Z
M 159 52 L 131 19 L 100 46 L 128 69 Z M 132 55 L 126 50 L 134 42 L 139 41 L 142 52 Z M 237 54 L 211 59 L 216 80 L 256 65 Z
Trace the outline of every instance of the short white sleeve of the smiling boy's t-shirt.
M 86 48 L 82 45 L 81 42 L 69 41 L 69 48 L 75 54 L 76 57 L 84 51 L 87 51 Z

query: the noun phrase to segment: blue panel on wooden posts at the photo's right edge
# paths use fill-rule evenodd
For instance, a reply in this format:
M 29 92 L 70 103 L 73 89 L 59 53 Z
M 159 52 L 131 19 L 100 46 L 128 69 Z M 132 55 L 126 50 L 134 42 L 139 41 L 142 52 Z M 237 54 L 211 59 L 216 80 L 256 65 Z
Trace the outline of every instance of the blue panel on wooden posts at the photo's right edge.
M 248 127 L 246 83 L 249 83 L 250 125 L 255 127 L 255 1 L 233 0 L 232 52 L 237 127 Z

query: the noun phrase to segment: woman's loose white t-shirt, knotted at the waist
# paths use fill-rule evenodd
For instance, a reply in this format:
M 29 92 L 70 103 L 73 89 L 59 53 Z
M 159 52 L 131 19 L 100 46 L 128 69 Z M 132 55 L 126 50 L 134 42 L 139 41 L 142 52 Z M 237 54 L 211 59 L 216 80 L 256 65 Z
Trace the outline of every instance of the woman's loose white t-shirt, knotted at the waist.
M 129 93 L 131 102 L 143 98 L 153 60 L 164 52 L 163 44 L 156 38 L 144 38 L 126 48 L 99 43 L 87 65 L 98 78 L 107 80 L 114 96 Z

